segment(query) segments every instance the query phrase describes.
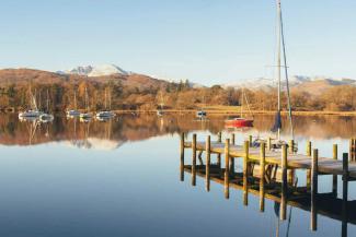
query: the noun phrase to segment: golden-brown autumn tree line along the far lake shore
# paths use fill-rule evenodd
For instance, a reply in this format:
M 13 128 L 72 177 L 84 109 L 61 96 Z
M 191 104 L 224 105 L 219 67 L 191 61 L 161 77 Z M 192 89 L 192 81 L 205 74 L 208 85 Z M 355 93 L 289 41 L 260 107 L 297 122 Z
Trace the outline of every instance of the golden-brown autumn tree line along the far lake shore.
M 28 83 L 30 84 L 30 83 Z M 78 109 L 85 107 L 85 88 L 88 105 L 91 110 L 100 110 L 110 106 L 111 109 L 153 110 L 163 106 L 164 109 L 199 109 L 206 106 L 240 106 L 245 104 L 241 99 L 241 88 L 223 88 L 219 85 L 194 88 L 188 81 L 179 83 L 168 82 L 163 86 L 133 87 L 119 82 L 107 83 L 82 81 L 79 83 L 54 84 L 9 84 L 0 86 L 0 108 L 30 108 L 32 93 L 39 108 L 47 105 L 49 109 L 61 111 L 74 108 L 74 93 Z M 31 87 L 31 92 L 30 92 Z M 277 107 L 276 90 L 252 91 L 244 88 L 249 105 L 254 110 L 275 110 Z M 106 99 L 105 99 L 106 94 Z M 294 110 L 356 110 L 356 87 L 340 85 L 328 88 L 319 94 L 310 94 L 291 90 L 291 105 Z M 287 107 L 286 94 L 283 94 L 283 107 Z M 106 100 L 106 103 L 105 103 Z

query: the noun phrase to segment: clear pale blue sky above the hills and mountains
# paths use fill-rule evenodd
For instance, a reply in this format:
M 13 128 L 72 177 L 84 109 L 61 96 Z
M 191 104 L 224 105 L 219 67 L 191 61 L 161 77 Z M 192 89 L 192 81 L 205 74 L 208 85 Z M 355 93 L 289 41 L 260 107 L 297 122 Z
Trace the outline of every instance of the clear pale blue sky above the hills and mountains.
M 356 1 L 283 0 L 291 74 L 356 79 Z M 1 0 L 0 67 L 115 63 L 204 84 L 271 76 L 275 0 Z

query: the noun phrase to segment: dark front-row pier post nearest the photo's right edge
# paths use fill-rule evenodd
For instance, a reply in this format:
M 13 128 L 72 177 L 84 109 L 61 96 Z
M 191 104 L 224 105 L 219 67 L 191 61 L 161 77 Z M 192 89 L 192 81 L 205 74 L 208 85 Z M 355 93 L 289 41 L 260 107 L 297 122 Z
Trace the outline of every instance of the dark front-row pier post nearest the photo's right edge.
M 343 154 L 343 208 L 342 236 L 347 236 L 348 155 Z

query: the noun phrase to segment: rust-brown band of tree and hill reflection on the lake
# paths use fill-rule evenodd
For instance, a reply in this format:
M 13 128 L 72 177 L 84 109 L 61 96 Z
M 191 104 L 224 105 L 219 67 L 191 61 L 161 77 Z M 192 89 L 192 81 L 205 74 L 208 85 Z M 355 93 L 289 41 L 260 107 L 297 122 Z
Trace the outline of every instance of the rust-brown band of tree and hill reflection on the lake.
M 19 122 L 15 115 L 0 116 L 0 143 L 4 145 L 34 145 L 47 142 L 67 141 L 79 147 L 103 145 L 119 147 L 127 141 L 140 141 L 152 137 L 188 132 L 209 131 L 214 134 L 222 130 L 239 131 L 256 137 L 269 133 L 273 116 L 256 116 L 253 128 L 225 128 L 223 116 L 213 116 L 197 120 L 194 115 L 120 115 L 108 120 L 79 122 L 78 119 L 56 117 L 51 123 L 38 120 Z M 288 122 L 285 137 L 288 135 Z M 335 126 L 337 125 L 337 126 Z M 336 116 L 299 116 L 295 119 L 296 139 L 348 139 L 356 132 L 356 119 Z

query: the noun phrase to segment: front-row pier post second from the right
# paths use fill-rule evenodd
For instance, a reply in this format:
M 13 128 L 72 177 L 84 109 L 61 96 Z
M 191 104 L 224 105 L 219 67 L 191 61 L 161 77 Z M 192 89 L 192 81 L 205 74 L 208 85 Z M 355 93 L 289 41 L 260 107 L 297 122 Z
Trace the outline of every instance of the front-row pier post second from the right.
M 317 212 L 317 195 L 318 195 L 318 149 L 312 151 L 312 164 L 311 164 L 311 222 L 310 228 L 315 232 L 318 226 L 318 212 Z

